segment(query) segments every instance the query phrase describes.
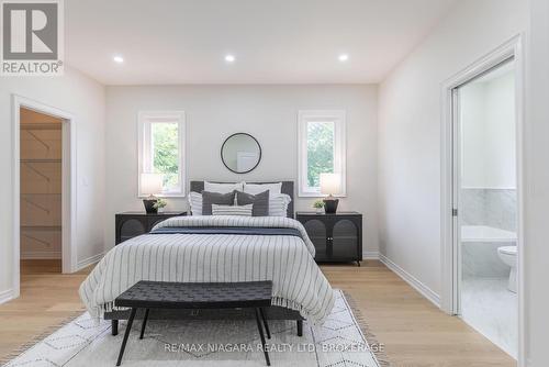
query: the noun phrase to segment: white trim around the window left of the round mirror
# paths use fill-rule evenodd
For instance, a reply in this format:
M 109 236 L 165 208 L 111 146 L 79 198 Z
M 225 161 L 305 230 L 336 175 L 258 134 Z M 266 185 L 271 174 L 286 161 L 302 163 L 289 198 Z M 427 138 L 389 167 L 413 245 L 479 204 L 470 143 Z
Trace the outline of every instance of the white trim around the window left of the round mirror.
M 148 135 L 150 134 L 150 123 L 161 122 L 167 120 L 170 122 L 178 123 L 178 135 L 179 135 L 179 181 L 181 182 L 180 191 L 163 192 L 158 194 L 160 198 L 181 198 L 184 197 L 187 187 L 187 129 L 186 129 L 186 116 L 184 111 L 139 111 L 137 114 L 137 132 L 138 132 L 138 148 L 137 148 L 137 164 L 138 164 L 138 175 L 137 175 L 137 197 L 145 198 L 141 191 L 141 174 L 146 173 L 145 168 L 149 165 L 146 162 L 144 152 L 150 149 L 150 140 Z

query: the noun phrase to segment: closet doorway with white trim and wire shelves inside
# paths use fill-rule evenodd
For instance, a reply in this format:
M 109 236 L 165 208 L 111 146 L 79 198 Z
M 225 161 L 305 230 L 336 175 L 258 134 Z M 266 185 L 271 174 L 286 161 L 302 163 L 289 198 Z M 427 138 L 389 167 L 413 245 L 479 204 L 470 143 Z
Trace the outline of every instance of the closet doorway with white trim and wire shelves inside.
M 77 269 L 75 119 L 13 96 L 13 294 L 24 273 Z

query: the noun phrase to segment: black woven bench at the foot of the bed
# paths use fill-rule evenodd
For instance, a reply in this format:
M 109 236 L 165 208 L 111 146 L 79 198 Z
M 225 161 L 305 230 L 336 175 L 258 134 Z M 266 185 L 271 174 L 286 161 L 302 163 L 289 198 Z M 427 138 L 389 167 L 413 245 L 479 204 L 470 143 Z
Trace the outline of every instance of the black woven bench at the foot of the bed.
M 139 338 L 145 334 L 150 309 L 239 309 L 253 308 L 256 313 L 256 323 L 261 337 L 265 362 L 270 366 L 269 354 L 265 345 L 264 326 L 267 337 L 270 331 L 262 308 L 271 305 L 272 281 L 244 282 L 167 282 L 139 281 L 120 294 L 114 304 L 131 308 L 126 331 L 120 347 L 116 366 L 122 363 L 127 337 L 137 310 L 145 310 L 145 318 Z M 262 325 L 261 325 L 262 321 Z

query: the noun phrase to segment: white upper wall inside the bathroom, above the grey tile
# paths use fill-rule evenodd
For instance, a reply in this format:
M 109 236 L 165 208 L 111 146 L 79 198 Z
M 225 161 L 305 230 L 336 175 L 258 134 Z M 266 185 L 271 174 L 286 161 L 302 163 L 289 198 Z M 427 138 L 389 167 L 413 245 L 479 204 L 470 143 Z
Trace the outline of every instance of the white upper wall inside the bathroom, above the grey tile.
M 514 70 L 473 81 L 459 94 L 462 188 L 516 188 Z

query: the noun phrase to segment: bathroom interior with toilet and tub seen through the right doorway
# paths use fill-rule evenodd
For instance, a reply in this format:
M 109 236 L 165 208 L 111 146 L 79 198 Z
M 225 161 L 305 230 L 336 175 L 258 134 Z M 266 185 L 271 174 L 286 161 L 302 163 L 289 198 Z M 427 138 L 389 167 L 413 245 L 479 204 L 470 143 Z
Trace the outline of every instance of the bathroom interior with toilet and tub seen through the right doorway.
M 460 88 L 460 316 L 515 358 L 516 120 L 513 60 Z

